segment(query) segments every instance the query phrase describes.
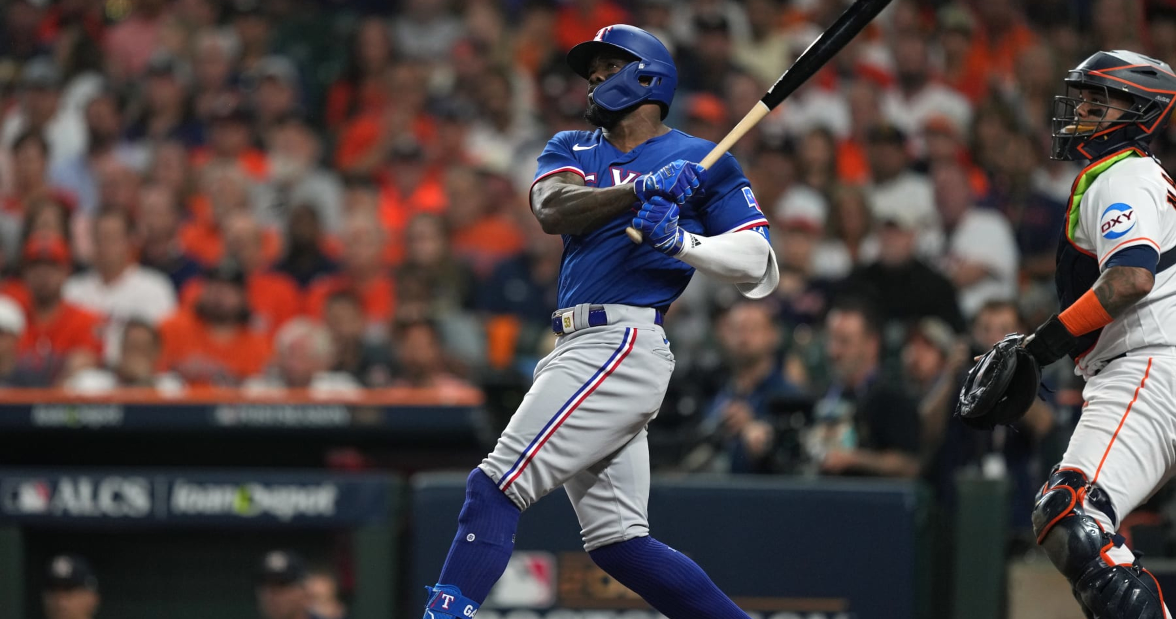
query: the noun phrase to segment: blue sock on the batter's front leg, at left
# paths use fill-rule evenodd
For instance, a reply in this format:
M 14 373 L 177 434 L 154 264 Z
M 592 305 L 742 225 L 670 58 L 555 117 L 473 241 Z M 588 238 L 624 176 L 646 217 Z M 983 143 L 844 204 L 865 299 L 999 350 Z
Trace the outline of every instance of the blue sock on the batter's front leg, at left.
M 521 513 L 489 475 L 475 468 L 466 480 L 466 504 L 437 588 L 455 590 L 477 605 L 486 601 L 510 560 Z

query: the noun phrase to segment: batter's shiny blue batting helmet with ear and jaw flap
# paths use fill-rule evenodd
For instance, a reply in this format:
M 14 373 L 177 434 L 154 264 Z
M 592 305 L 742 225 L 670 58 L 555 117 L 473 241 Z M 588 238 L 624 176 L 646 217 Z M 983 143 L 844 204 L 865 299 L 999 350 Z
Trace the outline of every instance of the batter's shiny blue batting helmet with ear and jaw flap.
M 601 82 L 589 96 L 603 107 L 616 112 L 642 101 L 661 104 L 662 118 L 669 113 L 669 104 L 677 89 L 677 69 L 669 49 L 648 32 L 616 24 L 596 31 L 596 36 L 568 52 L 568 66 L 588 79 L 593 58 L 602 52 L 620 52 L 632 62 Z

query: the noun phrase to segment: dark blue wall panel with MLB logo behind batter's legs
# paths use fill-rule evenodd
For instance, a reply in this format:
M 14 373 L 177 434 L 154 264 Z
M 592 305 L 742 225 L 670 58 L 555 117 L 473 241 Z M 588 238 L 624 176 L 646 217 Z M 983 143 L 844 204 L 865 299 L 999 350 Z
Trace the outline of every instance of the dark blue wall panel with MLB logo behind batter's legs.
M 465 479 L 420 475 L 413 486 L 408 573 L 432 584 Z M 914 484 L 881 480 L 655 479 L 649 520 L 654 537 L 697 561 L 754 619 L 914 618 L 921 501 Z M 524 512 L 479 619 L 661 617 L 593 564 L 579 533 L 562 490 Z

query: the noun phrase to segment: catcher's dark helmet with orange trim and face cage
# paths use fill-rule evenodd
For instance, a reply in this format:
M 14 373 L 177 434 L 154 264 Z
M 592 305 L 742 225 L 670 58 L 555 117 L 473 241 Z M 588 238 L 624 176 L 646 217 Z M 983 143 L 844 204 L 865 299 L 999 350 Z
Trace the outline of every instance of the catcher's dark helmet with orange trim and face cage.
M 1116 49 L 1097 52 L 1065 76 L 1067 94 L 1054 98 L 1054 159 L 1098 159 L 1135 146 L 1147 151 L 1151 138 L 1163 131 L 1176 100 L 1176 74 L 1167 62 L 1143 54 Z M 1101 91 L 1097 107 L 1121 109 L 1116 120 L 1080 119 L 1080 89 Z M 1129 99 L 1129 106 L 1116 105 Z M 1105 112 L 1103 112 L 1105 113 Z

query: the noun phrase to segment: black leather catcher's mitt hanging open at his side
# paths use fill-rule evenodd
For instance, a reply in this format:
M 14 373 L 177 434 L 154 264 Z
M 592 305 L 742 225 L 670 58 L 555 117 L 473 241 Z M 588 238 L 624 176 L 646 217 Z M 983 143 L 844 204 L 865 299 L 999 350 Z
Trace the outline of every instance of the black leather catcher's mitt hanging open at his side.
M 1041 366 L 1021 346 L 1023 339 L 1017 333 L 1005 335 L 968 371 L 956 417 L 969 427 L 993 430 L 1013 424 L 1033 406 Z

